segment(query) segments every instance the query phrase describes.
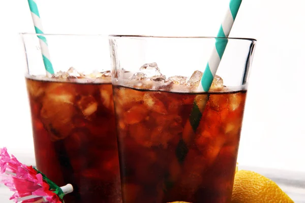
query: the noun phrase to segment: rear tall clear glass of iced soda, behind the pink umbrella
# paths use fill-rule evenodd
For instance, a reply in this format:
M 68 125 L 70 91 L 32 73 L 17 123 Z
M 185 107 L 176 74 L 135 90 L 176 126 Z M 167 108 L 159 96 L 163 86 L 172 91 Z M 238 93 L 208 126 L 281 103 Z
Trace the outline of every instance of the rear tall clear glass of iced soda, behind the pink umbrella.
M 108 38 L 22 34 L 38 170 L 65 202 L 121 202 Z M 39 40 L 47 41 L 47 77 Z

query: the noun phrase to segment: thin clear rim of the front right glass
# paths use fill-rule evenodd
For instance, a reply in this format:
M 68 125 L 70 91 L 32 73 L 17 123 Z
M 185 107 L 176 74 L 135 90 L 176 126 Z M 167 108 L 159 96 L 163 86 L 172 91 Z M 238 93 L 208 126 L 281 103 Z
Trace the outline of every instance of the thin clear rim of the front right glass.
M 203 37 L 203 36 L 148 36 L 148 35 L 109 35 L 111 39 L 118 38 L 126 38 L 126 39 L 146 39 L 146 38 L 154 38 L 154 39 L 227 39 L 227 40 L 242 40 L 242 41 L 251 41 L 257 42 L 256 39 L 253 38 L 226 38 L 226 37 Z

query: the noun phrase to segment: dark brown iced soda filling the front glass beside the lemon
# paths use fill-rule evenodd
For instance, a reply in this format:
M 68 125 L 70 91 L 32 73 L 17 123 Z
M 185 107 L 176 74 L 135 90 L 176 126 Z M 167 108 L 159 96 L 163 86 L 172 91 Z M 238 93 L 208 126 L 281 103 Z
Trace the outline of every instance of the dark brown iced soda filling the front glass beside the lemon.
M 123 202 L 230 202 L 246 90 L 113 94 Z

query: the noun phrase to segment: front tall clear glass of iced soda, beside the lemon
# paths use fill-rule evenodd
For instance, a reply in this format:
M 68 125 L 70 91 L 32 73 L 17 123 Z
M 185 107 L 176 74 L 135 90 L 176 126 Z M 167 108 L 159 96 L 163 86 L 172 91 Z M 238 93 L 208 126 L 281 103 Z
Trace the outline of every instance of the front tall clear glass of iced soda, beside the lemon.
M 202 92 L 216 40 L 227 48 Z M 123 202 L 230 202 L 255 43 L 110 36 Z

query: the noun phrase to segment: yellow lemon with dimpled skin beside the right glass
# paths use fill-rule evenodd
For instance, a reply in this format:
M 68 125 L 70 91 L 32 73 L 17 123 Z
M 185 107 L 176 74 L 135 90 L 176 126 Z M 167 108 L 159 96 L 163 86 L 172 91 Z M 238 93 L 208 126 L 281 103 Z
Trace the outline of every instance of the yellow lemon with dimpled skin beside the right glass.
M 293 203 L 293 200 L 270 179 L 251 171 L 235 174 L 232 203 Z

